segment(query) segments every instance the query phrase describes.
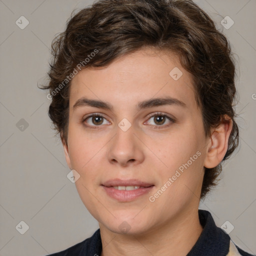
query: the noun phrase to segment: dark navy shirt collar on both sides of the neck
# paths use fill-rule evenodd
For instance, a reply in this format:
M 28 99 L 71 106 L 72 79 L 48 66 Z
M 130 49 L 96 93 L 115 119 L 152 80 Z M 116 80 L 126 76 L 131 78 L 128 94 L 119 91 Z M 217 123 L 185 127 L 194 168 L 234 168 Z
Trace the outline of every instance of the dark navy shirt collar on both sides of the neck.
M 229 250 L 230 237 L 219 227 L 207 210 L 198 210 L 200 224 L 203 230 L 187 256 L 226 256 Z M 79 256 L 100 256 L 102 250 L 100 230 L 83 241 L 83 246 Z

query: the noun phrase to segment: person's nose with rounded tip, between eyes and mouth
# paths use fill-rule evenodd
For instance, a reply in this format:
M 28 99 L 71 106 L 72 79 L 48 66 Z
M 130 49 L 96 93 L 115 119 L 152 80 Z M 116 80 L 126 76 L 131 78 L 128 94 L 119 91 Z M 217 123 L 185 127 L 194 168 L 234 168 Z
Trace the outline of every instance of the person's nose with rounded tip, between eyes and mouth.
M 117 127 L 116 134 L 108 143 L 108 161 L 121 166 L 141 163 L 144 160 L 144 145 L 138 137 L 132 125 L 126 131 Z

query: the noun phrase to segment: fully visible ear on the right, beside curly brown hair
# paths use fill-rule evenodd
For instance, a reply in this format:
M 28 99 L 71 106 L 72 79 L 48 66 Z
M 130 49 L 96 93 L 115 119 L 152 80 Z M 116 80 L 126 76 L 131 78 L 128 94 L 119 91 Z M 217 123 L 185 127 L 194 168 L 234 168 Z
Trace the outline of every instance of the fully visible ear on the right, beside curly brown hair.
M 213 168 L 222 161 L 227 151 L 232 126 L 233 122 L 230 117 L 225 116 L 220 125 L 212 131 L 204 159 L 204 167 Z

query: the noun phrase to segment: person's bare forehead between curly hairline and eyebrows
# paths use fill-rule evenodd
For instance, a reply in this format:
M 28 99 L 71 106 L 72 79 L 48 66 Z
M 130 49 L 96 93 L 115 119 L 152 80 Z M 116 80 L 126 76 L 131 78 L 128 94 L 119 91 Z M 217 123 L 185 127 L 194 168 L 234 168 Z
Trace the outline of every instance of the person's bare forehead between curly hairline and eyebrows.
M 153 97 L 170 96 L 196 104 L 192 77 L 178 56 L 144 48 L 123 55 L 106 67 L 84 68 L 71 81 L 70 106 L 80 97 L 127 107 Z

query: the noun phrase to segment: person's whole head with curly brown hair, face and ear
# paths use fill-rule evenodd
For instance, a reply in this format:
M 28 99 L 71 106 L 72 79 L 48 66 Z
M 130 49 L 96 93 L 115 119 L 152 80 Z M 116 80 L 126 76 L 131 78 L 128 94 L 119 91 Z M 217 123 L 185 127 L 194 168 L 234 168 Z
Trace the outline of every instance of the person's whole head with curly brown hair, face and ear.
M 203 10 L 191 0 L 99 0 L 70 18 L 52 54 L 48 113 L 99 222 L 146 230 L 205 197 L 238 127 L 232 52 Z M 102 188 L 113 178 L 154 187 L 117 202 Z

